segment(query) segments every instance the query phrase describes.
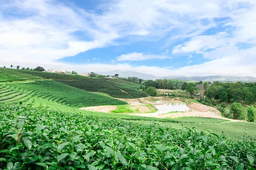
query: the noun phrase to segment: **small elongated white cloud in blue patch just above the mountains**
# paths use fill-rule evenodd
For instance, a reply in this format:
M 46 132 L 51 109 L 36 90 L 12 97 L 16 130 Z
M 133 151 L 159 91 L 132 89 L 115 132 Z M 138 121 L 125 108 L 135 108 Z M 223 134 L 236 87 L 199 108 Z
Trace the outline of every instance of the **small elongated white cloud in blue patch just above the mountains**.
M 171 57 L 137 52 L 122 54 L 121 56 L 116 57 L 117 61 L 142 61 L 146 59 L 171 59 Z

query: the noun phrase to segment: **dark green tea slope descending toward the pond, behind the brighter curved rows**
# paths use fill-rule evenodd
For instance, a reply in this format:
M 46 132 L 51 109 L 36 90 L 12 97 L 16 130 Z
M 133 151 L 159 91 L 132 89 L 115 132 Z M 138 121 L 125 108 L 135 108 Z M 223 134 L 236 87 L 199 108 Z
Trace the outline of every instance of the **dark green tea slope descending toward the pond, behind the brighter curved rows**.
M 81 80 L 81 81 L 58 80 L 57 82 L 61 82 L 66 85 L 70 85 L 72 87 L 79 88 L 85 91 L 106 93 L 112 97 L 125 98 L 125 99 L 135 98 L 134 96 L 131 96 L 125 92 L 122 92 L 119 88 L 114 87 L 113 85 L 109 84 L 108 82 L 105 82 L 104 80 L 97 80 L 97 79 Z

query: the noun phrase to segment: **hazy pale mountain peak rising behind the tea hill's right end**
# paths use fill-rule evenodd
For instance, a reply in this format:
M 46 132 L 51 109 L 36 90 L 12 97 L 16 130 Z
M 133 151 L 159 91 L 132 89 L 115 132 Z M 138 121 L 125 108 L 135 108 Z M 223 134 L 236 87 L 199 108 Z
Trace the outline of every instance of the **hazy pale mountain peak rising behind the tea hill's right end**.
M 145 73 L 139 73 L 137 71 L 120 71 L 120 70 L 114 70 L 114 71 L 107 71 L 107 72 L 96 72 L 98 74 L 103 75 L 115 75 L 119 74 L 119 77 L 138 77 L 140 79 L 157 79 L 157 77 L 151 75 L 151 74 L 145 74 Z

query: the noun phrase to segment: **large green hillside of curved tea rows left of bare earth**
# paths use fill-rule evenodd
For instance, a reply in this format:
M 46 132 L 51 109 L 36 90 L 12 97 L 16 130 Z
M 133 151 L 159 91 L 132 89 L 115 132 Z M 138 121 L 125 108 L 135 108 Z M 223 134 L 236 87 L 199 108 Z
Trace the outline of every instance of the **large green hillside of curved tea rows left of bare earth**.
M 91 92 L 51 80 L 27 83 L 9 83 L 2 86 L 23 94 L 29 94 L 30 97 L 38 96 L 43 99 L 48 99 L 71 107 L 127 104 L 121 100 L 99 94 L 93 94 Z

